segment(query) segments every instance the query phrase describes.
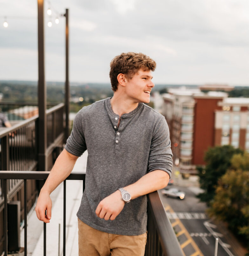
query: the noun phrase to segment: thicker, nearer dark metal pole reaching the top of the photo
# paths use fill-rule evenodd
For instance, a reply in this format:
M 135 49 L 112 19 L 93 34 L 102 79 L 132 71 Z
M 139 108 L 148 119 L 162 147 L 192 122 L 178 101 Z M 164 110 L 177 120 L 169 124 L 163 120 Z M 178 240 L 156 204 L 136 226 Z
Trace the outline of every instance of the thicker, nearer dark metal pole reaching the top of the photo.
M 46 84 L 44 69 L 44 3 L 38 1 L 38 107 L 39 107 L 39 141 L 38 171 L 47 171 L 47 118 L 46 118 Z

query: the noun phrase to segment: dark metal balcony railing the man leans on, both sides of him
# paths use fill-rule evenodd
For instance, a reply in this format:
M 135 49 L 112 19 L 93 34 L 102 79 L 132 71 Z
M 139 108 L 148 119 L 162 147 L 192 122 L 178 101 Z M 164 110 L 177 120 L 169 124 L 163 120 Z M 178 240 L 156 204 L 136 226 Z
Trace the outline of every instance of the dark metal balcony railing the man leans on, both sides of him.
M 7 201 L 9 179 L 24 180 L 24 256 L 27 255 L 27 180 L 46 180 L 49 172 L 24 172 L 24 171 L 2 171 L 0 179 L 4 187 L 4 256 L 7 256 Z M 85 173 L 72 172 L 66 180 L 83 180 L 83 191 Z M 63 256 L 66 254 L 66 180 L 64 180 L 64 204 L 63 204 Z M 159 198 L 158 192 L 148 194 L 148 222 L 147 222 L 147 244 L 145 256 L 183 256 L 175 232 L 168 219 L 164 206 Z M 44 223 L 44 255 L 46 255 L 46 223 Z

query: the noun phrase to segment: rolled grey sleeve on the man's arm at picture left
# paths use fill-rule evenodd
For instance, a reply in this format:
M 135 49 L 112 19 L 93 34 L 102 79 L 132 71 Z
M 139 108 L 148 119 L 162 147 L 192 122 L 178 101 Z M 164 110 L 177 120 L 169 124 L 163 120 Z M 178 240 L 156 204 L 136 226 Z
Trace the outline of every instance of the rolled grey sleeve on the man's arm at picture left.
M 79 111 L 73 120 L 73 129 L 67 139 L 65 149 L 74 156 L 81 156 L 86 151 L 85 137 L 83 133 L 82 110 Z

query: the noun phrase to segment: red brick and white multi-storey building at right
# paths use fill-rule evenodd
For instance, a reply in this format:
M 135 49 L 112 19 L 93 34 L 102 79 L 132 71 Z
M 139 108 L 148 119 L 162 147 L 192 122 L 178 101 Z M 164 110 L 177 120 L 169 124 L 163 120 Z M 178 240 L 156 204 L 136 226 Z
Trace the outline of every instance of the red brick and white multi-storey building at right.
M 182 174 L 196 174 L 209 147 L 232 145 L 249 152 L 249 98 L 182 87 L 169 89 L 163 99 L 173 159 Z

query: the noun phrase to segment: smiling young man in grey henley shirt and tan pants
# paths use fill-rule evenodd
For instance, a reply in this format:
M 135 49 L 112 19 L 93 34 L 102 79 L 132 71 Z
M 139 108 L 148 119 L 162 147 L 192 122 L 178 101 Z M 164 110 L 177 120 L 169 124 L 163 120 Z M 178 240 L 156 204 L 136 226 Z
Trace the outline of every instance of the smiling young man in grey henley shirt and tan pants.
M 110 66 L 113 97 L 77 113 L 36 206 L 38 219 L 49 222 L 50 193 L 87 150 L 85 190 L 77 212 L 80 256 L 144 255 L 145 195 L 165 187 L 172 172 L 165 118 L 144 104 L 154 87 L 155 61 L 128 52 L 116 56 Z

